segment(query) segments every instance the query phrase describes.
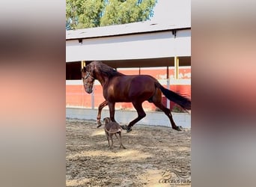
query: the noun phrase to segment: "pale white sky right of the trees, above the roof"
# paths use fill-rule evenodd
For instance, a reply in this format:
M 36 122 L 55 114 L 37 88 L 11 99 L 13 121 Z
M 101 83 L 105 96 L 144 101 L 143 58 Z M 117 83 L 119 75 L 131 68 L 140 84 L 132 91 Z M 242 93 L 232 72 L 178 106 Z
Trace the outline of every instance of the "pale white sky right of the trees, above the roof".
M 154 8 L 154 22 L 191 22 L 191 0 L 158 0 Z

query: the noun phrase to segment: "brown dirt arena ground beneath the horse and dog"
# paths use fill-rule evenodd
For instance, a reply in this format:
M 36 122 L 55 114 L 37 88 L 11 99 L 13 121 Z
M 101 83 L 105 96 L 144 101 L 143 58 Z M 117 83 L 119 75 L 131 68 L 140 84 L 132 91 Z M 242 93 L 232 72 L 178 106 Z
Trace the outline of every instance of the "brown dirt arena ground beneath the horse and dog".
M 95 121 L 67 119 L 66 133 L 66 186 L 190 186 L 190 129 L 135 125 L 122 132 L 126 150 L 115 137 L 109 150 Z

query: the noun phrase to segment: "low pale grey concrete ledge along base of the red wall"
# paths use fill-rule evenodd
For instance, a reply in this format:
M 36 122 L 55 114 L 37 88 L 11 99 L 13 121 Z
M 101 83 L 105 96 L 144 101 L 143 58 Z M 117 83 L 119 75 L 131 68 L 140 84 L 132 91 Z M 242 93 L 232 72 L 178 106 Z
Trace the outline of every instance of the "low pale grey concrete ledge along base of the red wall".
M 66 108 L 67 118 L 76 118 L 82 120 L 96 120 L 97 109 L 91 108 Z M 144 125 L 155 125 L 155 126 L 171 126 L 171 123 L 165 113 L 160 111 L 146 111 L 147 116 L 142 120 L 138 121 L 137 124 Z M 177 126 L 182 126 L 183 128 L 191 128 L 191 114 L 187 113 L 171 113 L 174 122 Z M 115 120 L 118 123 L 128 124 L 129 121 L 135 119 L 138 114 L 136 111 L 115 111 Z M 109 109 L 103 109 L 101 114 L 101 119 L 104 117 L 109 117 Z

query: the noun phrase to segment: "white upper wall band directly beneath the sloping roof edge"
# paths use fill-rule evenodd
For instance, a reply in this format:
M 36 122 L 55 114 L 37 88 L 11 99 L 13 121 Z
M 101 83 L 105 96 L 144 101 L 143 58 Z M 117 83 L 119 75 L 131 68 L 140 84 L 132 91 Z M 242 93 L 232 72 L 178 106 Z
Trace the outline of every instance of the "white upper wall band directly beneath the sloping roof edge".
M 66 40 L 66 62 L 166 58 L 191 55 L 191 30 Z

